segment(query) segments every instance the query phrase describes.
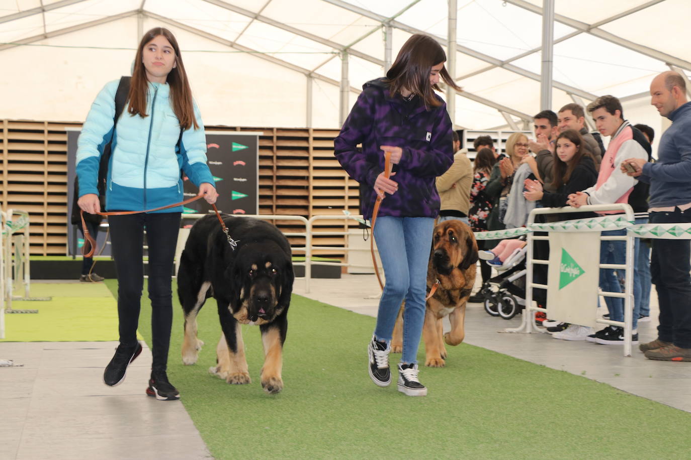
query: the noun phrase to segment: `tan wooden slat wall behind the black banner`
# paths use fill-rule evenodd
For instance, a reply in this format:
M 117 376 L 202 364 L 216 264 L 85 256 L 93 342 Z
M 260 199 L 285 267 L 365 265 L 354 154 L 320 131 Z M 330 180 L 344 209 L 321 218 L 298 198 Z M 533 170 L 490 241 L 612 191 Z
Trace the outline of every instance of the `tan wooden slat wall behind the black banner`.
M 34 255 L 66 254 L 67 127 L 79 123 L 0 121 L 0 194 L 3 210 L 30 213 L 30 250 Z M 292 214 L 358 214 L 358 183 L 334 158 L 338 130 L 207 126 L 213 131 L 261 132 L 259 137 L 259 212 Z M 285 232 L 302 231 L 295 221 L 276 221 Z M 354 221 L 318 221 L 319 230 L 348 232 Z M 303 237 L 290 237 L 304 246 Z M 320 246 L 345 246 L 345 237 L 317 235 Z M 319 250 L 319 255 L 345 259 L 345 251 Z

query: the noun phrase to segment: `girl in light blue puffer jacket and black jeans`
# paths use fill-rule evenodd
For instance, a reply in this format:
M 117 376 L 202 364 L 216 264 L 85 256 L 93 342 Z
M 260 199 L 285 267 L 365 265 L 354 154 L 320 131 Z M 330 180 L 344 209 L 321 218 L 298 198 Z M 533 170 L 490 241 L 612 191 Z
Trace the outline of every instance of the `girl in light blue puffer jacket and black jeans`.
M 180 170 L 199 187 L 209 203 L 216 202 L 214 178 L 207 166 L 206 137 L 184 72 L 180 48 L 164 28 L 142 37 L 135 58 L 127 102 L 114 123 L 118 81 L 97 95 L 79 136 L 77 176 L 79 208 L 100 212 L 97 188 L 102 148 L 112 137 L 106 177 L 109 211 L 143 211 L 183 201 Z M 182 206 L 108 218 L 115 268 L 120 345 L 106 366 L 104 382 L 124 380 L 129 363 L 142 352 L 137 341 L 140 297 L 144 283 L 142 263 L 144 229 L 149 246 L 149 299 L 153 336 L 151 379 L 146 394 L 161 400 L 180 393 L 166 374 L 173 305 L 171 271 Z

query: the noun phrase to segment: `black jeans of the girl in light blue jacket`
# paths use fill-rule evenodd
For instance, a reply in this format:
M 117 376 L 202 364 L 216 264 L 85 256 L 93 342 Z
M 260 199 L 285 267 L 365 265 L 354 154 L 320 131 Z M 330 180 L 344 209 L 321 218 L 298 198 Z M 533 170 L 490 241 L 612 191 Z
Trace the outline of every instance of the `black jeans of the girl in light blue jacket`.
M 137 342 L 140 299 L 144 288 L 144 228 L 149 245 L 149 299 L 151 299 L 152 368 L 165 370 L 173 323 L 171 272 L 180 212 L 111 216 L 111 243 L 117 270 L 117 317 L 120 343 Z

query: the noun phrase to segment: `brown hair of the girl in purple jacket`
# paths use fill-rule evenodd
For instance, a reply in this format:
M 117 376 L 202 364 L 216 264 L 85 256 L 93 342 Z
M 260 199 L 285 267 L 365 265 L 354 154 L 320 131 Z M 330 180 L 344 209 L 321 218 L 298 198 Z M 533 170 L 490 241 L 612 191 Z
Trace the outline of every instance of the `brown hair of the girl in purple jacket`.
M 413 35 L 403 44 L 396 61 L 386 72 L 391 96 L 406 89 L 421 97 L 426 107 L 441 106 L 442 103 L 435 97 L 433 91 L 440 91 L 439 86 L 430 85 L 430 69 L 442 62 L 446 62 L 446 53 L 435 39 L 425 34 Z M 462 91 L 460 86 L 453 82 L 446 67 L 442 67 L 439 75 L 448 86 Z

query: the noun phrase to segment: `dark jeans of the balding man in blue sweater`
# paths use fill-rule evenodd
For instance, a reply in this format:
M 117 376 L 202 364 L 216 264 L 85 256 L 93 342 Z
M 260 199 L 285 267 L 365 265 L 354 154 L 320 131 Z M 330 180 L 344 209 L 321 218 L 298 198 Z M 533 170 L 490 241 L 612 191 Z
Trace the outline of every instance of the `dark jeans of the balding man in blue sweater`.
M 691 209 L 651 212 L 650 223 L 691 222 Z M 650 275 L 660 306 L 660 340 L 691 348 L 691 244 L 688 239 L 653 239 Z

